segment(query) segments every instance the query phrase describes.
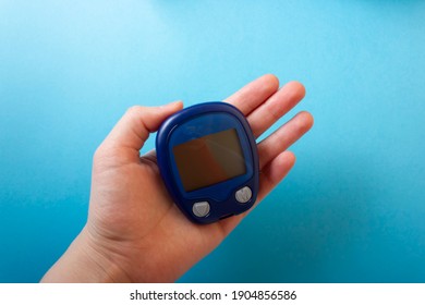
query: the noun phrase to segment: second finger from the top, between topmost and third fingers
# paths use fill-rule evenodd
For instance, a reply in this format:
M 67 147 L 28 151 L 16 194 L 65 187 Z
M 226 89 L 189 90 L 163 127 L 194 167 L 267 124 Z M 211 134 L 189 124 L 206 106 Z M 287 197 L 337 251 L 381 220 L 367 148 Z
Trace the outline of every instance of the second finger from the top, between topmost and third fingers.
M 305 88 L 299 82 L 290 82 L 274 94 L 266 102 L 255 109 L 248 117 L 254 136 L 260 136 L 283 114 L 289 112 L 305 96 Z

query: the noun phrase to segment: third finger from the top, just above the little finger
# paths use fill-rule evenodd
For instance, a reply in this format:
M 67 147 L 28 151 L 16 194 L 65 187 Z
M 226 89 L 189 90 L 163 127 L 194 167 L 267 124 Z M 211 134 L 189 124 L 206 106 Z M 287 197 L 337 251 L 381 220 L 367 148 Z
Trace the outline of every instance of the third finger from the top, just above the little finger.
M 259 168 L 263 169 L 276 156 L 302 137 L 313 126 L 313 122 L 312 114 L 302 111 L 267 138 L 263 139 L 257 145 Z

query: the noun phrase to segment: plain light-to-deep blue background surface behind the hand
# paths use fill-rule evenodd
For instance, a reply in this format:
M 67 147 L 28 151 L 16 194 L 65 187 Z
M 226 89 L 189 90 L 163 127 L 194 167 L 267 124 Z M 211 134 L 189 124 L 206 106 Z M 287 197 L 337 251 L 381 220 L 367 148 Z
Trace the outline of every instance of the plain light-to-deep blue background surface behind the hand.
M 425 282 L 420 0 L 0 0 L 0 281 L 38 281 L 82 229 L 94 150 L 130 106 L 223 99 L 265 73 L 305 84 L 286 120 L 315 126 L 180 281 Z

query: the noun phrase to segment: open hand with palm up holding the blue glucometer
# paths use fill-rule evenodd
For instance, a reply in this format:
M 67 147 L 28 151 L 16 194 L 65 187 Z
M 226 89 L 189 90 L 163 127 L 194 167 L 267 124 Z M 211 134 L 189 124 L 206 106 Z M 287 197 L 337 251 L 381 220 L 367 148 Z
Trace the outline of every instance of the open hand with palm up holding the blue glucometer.
M 264 75 L 226 101 L 245 114 L 258 137 L 304 94 L 298 82 L 279 89 L 274 75 Z M 180 101 L 154 108 L 136 106 L 118 122 L 94 157 L 87 223 L 42 281 L 175 281 L 246 216 L 244 212 L 207 225 L 192 223 L 169 197 L 155 151 L 139 156 L 149 134 L 181 109 Z M 312 125 L 312 115 L 300 112 L 258 144 L 256 204 L 292 168 L 295 157 L 287 148 Z

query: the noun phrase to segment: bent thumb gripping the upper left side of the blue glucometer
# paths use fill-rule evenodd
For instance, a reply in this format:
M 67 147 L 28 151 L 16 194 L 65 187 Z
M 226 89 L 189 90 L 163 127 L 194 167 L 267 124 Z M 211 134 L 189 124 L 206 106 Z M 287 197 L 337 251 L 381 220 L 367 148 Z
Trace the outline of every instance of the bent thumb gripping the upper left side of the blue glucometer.
M 112 150 L 142 149 L 149 133 L 156 132 L 159 125 L 172 113 L 183 108 L 182 101 L 174 101 L 160 107 L 131 107 L 109 133 L 101 146 Z

